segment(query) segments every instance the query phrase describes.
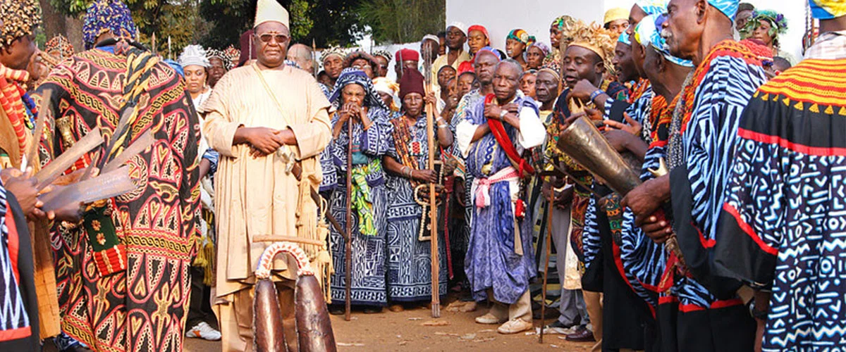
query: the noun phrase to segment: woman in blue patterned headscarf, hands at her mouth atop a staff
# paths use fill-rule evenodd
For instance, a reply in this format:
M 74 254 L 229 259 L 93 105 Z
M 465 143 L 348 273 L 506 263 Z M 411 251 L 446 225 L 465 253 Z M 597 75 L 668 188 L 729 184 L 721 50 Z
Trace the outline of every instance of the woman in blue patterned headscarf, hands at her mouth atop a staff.
M 337 109 L 332 116 L 332 161 L 337 169 L 338 187 L 332 192 L 330 211 L 346 230 L 347 197 L 352 197 L 353 260 L 350 301 L 364 306 L 365 313 L 382 311 L 387 305 L 385 284 L 387 189 L 382 155 L 387 152 L 391 136 L 389 111 L 367 75 L 354 68 L 345 68 L 329 99 Z M 352 133 L 352 189 L 347 184 L 348 124 Z M 346 299 L 346 263 L 343 234 L 331 228 L 332 313 L 343 312 Z M 340 304 L 340 305 L 338 305 Z

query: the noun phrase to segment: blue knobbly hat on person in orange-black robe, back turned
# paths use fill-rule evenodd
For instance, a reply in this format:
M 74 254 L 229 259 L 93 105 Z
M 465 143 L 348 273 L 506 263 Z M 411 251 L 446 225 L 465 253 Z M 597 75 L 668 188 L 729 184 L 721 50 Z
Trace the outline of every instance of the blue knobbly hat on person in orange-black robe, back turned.
M 82 24 L 85 50 L 93 48 L 97 37 L 109 31 L 133 41 L 138 36 L 138 29 L 126 4 L 120 0 L 97 0 L 88 7 Z

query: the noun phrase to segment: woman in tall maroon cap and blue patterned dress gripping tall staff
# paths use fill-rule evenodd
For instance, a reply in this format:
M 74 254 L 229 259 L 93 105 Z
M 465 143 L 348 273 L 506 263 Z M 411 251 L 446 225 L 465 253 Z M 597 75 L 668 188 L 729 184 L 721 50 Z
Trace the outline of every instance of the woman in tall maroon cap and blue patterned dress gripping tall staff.
M 435 151 L 440 158 L 440 149 L 453 144 L 453 133 L 442 117 L 434 126 L 426 123 L 426 92 L 423 89 L 423 75 L 414 68 L 406 70 L 399 83 L 399 96 L 403 100 L 403 112 L 393 118 L 393 133 L 389 138 L 385 168 L 390 172 L 387 189 L 390 192 L 390 206 L 387 208 L 387 286 L 388 298 L 392 303 L 429 301 L 431 299 L 431 242 L 420 239 L 430 236 L 426 226 L 420 226 L 420 219 L 429 211 L 417 200 L 428 201 L 422 192 L 415 192 L 419 185 L 429 182 L 440 183 L 443 179 L 437 171 L 429 170 L 428 128 L 435 130 L 437 143 Z M 430 95 L 429 99 L 434 96 Z M 450 168 L 446 168 L 450 169 Z M 451 171 L 444 170 L 448 176 Z M 428 190 L 428 187 L 424 187 Z M 424 191 L 426 192 L 426 191 Z M 427 217 L 428 218 L 428 217 Z M 426 220 L 430 221 L 430 220 Z M 443 224 L 442 214 L 438 224 Z M 442 226 L 439 226 L 442 227 Z M 438 271 L 439 295 L 447 294 L 446 246 L 443 240 L 438 246 L 441 270 Z M 401 311 L 394 305 L 391 311 Z

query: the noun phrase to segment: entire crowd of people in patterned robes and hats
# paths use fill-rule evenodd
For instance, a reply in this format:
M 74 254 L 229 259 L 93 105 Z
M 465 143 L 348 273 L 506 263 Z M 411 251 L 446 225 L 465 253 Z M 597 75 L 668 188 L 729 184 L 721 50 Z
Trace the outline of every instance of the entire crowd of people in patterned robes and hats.
M 548 44 L 514 29 L 504 48 L 452 23 L 420 50 L 318 60 L 258 0 L 239 46 L 173 61 L 121 0 L 91 4 L 81 52 L 40 50 L 39 3 L 0 0 L 0 347 L 253 350 L 256 265 L 284 238 L 332 314 L 449 295 L 503 334 L 552 311 L 537 328 L 596 350 L 838 349 L 846 3 L 808 14 L 801 60 L 783 14 L 734 0 L 563 15 Z M 113 160 L 134 189 L 52 206 Z M 292 351 L 296 266 L 272 263 Z

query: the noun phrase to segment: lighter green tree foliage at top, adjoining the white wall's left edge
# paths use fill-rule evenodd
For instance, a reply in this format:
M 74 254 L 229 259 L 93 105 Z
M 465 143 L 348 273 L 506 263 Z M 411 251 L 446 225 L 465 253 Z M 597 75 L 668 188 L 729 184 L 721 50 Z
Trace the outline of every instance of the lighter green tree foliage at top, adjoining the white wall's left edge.
M 372 0 L 362 3 L 359 13 L 380 44 L 420 41 L 446 26 L 444 0 Z

